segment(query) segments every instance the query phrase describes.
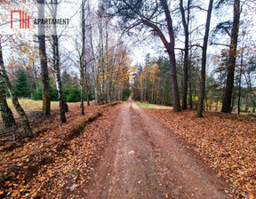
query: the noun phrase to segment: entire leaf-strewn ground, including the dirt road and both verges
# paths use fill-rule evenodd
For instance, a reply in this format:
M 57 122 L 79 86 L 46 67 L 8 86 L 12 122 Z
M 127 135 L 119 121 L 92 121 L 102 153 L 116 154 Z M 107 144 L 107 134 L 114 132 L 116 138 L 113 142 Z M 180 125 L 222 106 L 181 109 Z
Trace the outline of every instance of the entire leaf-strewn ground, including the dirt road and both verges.
M 251 116 L 69 107 L 68 123 L 53 111 L 34 120 L 33 139 L 1 143 L 0 198 L 256 197 Z

